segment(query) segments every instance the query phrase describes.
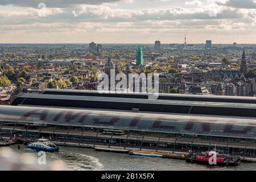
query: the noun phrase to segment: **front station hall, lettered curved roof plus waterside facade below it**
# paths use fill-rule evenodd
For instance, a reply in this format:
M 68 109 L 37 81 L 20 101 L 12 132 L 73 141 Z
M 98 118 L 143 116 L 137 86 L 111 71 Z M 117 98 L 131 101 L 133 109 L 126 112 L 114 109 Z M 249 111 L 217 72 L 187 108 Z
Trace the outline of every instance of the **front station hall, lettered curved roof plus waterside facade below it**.
M 216 146 L 226 153 L 251 155 L 256 150 L 256 122 L 252 117 L 0 106 L 0 126 L 2 135 L 11 133 L 23 139 L 44 137 L 79 146 L 168 151 L 209 150 Z

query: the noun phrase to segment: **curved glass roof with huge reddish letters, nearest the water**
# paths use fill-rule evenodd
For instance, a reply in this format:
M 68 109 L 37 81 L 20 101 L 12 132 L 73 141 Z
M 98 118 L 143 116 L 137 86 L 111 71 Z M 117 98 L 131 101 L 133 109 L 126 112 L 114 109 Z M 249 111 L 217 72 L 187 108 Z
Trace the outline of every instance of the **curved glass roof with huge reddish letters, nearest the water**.
M 256 120 L 241 118 L 0 106 L 0 121 L 256 139 Z

